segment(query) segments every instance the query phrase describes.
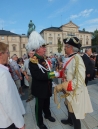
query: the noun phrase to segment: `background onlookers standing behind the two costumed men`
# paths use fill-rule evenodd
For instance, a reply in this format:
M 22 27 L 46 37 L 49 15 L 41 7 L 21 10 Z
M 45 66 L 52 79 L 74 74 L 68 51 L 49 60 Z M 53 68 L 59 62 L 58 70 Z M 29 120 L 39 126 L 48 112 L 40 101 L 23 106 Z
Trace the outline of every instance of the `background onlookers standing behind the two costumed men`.
M 85 50 L 85 53 L 79 53 L 84 61 L 85 67 L 86 67 L 86 75 L 88 78 L 86 78 L 86 84 L 88 81 L 94 80 L 98 74 L 98 59 L 97 56 L 92 53 L 91 48 L 87 48 Z M 14 54 L 8 61 L 5 66 L 9 68 L 9 71 L 11 73 L 11 76 L 13 80 L 16 83 L 16 86 L 19 90 L 20 95 L 24 95 L 22 92 L 22 87 L 27 86 L 29 87 L 29 90 L 31 89 L 32 84 L 32 77 L 29 70 L 29 58 L 33 57 L 34 52 L 29 51 L 26 54 L 23 55 L 23 57 L 18 58 L 16 54 Z M 64 60 L 66 60 L 67 55 L 51 55 L 51 56 L 44 56 L 44 59 L 48 62 L 51 70 L 61 70 L 63 68 Z M 59 80 L 59 79 L 58 79 Z M 29 94 L 31 92 L 29 91 Z M 30 95 L 29 95 L 30 96 Z M 31 97 L 32 98 L 32 97 Z M 28 98 L 30 99 L 30 97 Z M 31 100 L 31 99 L 30 99 Z M 28 100 L 27 100 L 28 101 Z

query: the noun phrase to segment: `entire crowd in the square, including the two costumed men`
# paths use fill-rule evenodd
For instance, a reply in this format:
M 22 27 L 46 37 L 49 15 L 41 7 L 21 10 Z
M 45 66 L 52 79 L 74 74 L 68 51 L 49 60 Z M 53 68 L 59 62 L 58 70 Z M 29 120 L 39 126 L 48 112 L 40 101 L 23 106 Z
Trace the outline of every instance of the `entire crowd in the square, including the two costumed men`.
M 93 111 L 86 86 L 96 77 L 98 56 L 92 54 L 90 48 L 81 55 L 77 37 L 66 38 L 63 42 L 66 56 L 54 54 L 48 57 L 45 55 L 47 44 L 40 34 L 33 31 L 26 46 L 27 55 L 18 58 L 14 54 L 9 60 L 8 45 L 0 42 L 0 129 L 25 128 L 25 109 L 21 101 L 21 96 L 25 94 L 23 86 L 29 86 L 26 102 L 35 98 L 37 126 L 47 129 L 43 113 L 45 119 L 55 122 L 50 111 L 54 78 L 58 79 L 54 102 L 58 104 L 56 95 L 63 92 L 68 109 L 68 119 L 61 122 L 81 129 L 80 119 Z

